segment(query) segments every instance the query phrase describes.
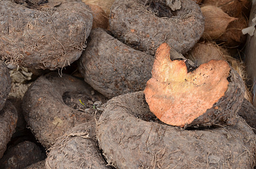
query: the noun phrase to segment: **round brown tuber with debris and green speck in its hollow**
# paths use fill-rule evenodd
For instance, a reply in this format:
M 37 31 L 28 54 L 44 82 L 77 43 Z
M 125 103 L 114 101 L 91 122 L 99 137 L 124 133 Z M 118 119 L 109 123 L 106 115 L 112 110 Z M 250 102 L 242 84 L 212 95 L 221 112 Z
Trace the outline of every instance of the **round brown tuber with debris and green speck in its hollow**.
M 103 102 L 105 97 L 96 92 L 92 95 L 92 91 L 84 81 L 67 74 L 60 78 L 58 73 L 49 73 L 31 84 L 23 97 L 23 113 L 32 133 L 45 148 L 76 124 L 94 121 L 94 114 L 81 108 L 88 101 Z M 79 98 L 72 99 L 72 95 Z

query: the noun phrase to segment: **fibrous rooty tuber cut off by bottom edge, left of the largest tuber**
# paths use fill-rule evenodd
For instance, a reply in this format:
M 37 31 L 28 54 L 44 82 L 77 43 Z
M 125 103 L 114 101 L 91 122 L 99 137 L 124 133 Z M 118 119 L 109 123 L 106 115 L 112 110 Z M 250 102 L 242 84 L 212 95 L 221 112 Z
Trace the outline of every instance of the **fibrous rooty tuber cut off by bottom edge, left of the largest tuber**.
M 79 124 L 59 137 L 49 149 L 46 168 L 110 168 L 99 152 L 95 125 Z

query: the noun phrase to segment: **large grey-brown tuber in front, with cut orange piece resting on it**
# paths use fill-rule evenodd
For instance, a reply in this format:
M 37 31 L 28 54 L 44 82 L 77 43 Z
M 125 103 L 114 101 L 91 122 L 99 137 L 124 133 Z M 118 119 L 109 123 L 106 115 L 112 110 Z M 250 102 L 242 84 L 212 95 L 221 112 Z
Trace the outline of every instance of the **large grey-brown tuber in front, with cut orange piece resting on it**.
M 246 168 L 255 165 L 255 135 L 243 119 L 234 126 L 184 130 L 158 122 L 142 91 L 108 101 L 97 139 L 116 168 Z

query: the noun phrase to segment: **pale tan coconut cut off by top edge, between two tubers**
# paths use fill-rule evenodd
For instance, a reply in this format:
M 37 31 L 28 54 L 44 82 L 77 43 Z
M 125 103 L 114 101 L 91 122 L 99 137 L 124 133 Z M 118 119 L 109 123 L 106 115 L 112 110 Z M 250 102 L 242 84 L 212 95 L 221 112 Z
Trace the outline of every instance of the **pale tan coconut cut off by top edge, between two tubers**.
M 115 0 L 82 0 L 82 2 L 88 5 L 97 5 L 102 8 L 102 10 L 107 14 L 110 15 L 110 8 Z

